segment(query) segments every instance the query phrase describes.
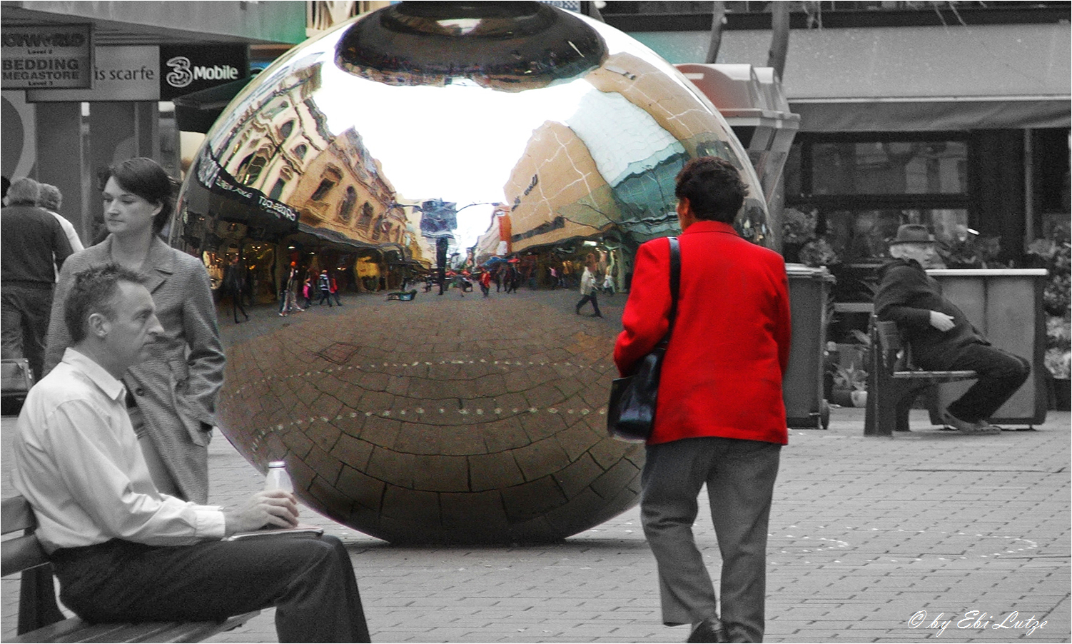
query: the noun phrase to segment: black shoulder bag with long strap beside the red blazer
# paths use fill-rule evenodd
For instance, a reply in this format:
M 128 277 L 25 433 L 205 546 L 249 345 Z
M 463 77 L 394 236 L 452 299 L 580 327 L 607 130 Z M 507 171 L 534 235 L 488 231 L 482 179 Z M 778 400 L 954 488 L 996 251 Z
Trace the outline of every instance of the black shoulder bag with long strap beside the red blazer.
M 681 250 L 678 238 L 670 240 L 670 326 L 667 334 L 634 368 L 632 375 L 615 378 L 610 385 L 607 404 L 607 432 L 619 440 L 644 443 L 655 426 L 655 398 L 659 392 L 662 355 L 670 343 L 678 317 L 678 291 L 681 284 Z

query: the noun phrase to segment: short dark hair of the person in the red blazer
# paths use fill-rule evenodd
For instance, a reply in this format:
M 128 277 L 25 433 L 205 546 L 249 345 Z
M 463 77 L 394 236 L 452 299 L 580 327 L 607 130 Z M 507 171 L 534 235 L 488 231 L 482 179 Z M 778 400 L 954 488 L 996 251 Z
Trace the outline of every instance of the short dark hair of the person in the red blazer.
M 674 179 L 674 196 L 688 199 L 699 220 L 732 224 L 747 194 L 733 164 L 716 156 L 690 159 Z

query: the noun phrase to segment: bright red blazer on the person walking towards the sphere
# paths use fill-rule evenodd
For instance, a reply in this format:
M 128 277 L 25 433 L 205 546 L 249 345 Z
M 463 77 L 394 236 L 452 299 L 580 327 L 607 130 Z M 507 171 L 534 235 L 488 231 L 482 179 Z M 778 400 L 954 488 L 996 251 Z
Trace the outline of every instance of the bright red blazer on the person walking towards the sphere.
M 681 235 L 678 319 L 662 361 L 649 444 L 720 436 L 788 443 L 781 375 L 789 361 L 789 280 L 774 251 L 701 221 Z M 640 246 L 614 363 L 627 375 L 666 334 L 670 243 Z

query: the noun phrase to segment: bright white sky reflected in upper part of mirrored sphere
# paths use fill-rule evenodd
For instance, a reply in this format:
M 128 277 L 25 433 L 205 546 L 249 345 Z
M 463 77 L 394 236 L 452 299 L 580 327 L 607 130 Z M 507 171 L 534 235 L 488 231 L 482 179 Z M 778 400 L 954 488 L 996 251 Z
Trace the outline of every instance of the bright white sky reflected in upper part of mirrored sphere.
M 325 86 L 353 88 L 353 94 L 319 92 L 314 99 L 332 134 L 351 126 L 360 133 L 400 197 L 444 199 L 459 209 L 506 201 L 503 186 L 533 131 L 546 121 L 567 122 L 584 94 L 597 92 L 583 80 L 503 92 L 463 83 L 388 86 L 333 64 L 324 65 L 322 73 Z M 480 93 L 479 101 L 473 100 L 474 92 Z M 355 103 L 355 95 L 360 102 Z M 472 206 L 460 212 L 461 245 L 476 243 L 488 229 L 491 211 L 491 206 Z

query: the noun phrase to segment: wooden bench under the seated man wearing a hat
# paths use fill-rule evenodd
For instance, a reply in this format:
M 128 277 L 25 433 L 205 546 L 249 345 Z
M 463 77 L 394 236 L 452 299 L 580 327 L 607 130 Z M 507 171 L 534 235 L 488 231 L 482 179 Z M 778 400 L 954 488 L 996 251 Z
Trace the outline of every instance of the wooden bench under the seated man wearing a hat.
M 870 320 L 870 373 L 867 376 L 867 411 L 864 436 L 892 436 L 907 432 L 908 411 L 921 391 L 939 383 L 970 380 L 973 371 L 923 371 L 912 363 L 911 346 L 897 324 Z

